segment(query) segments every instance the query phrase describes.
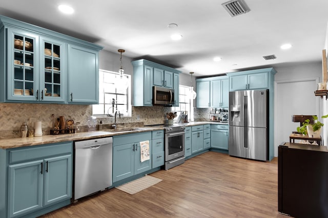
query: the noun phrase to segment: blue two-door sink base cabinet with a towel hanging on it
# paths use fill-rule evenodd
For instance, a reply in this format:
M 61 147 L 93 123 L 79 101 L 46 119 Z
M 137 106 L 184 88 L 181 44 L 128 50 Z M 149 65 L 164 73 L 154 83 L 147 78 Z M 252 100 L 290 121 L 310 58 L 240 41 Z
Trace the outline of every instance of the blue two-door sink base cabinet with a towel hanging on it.
M 113 182 L 152 169 L 152 132 L 113 136 Z M 140 141 L 149 140 L 150 159 L 141 162 Z

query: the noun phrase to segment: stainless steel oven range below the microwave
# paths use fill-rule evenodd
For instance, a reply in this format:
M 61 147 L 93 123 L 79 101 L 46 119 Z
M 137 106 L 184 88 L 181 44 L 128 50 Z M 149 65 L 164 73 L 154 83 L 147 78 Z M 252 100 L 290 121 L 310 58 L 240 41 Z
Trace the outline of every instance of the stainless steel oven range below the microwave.
M 173 125 L 164 128 L 165 169 L 185 162 L 185 126 Z

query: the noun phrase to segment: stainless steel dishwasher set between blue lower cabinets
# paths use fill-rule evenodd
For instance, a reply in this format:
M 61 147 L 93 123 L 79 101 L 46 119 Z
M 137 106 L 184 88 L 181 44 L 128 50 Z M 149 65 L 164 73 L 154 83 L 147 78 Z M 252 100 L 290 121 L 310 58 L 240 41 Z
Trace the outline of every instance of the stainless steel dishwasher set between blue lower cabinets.
M 112 185 L 113 138 L 75 141 L 74 200 Z

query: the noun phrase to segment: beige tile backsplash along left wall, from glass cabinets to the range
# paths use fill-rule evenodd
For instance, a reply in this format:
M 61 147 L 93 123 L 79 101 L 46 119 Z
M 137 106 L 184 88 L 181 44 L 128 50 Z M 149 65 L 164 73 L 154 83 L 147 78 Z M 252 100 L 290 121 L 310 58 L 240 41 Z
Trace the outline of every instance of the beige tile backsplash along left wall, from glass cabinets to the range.
M 140 125 L 162 124 L 170 107 L 132 107 L 132 117 L 116 118 L 118 127 L 133 127 Z M 66 120 L 73 119 L 80 131 L 87 131 L 88 117 L 92 115 L 91 105 L 61 105 L 61 104 L 28 104 L 0 103 L 0 138 L 20 137 L 20 126 L 26 122 L 33 127 L 35 121 L 42 122 L 43 134 L 47 135 L 56 119 L 64 116 Z M 114 123 L 114 117 L 97 117 L 105 125 Z

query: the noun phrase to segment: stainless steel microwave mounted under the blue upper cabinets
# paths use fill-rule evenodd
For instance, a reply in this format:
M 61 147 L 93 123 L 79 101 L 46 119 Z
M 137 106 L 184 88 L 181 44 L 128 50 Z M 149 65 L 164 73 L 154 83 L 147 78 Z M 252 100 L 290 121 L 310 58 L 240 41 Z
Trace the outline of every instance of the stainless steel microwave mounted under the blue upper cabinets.
M 174 89 L 153 86 L 153 105 L 172 106 L 174 103 Z

